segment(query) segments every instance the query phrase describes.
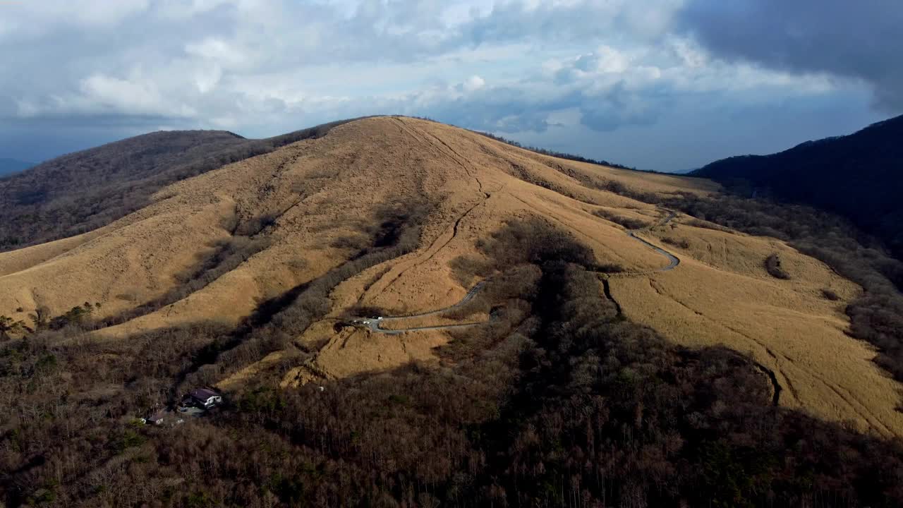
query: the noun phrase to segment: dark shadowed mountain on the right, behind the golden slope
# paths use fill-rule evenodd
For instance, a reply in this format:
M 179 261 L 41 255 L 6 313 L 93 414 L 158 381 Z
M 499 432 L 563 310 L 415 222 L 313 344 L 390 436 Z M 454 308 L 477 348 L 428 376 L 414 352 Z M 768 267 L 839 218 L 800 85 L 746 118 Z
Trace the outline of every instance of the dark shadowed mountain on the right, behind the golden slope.
M 712 178 L 849 218 L 903 257 L 903 116 L 849 136 L 808 141 L 773 155 L 736 156 L 705 165 Z

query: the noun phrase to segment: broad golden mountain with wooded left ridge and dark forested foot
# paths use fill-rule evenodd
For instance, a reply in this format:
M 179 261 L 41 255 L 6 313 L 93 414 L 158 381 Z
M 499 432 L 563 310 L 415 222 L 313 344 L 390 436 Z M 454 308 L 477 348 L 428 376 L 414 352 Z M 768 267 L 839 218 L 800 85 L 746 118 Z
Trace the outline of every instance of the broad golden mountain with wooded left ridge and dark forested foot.
M 903 501 L 903 307 L 777 238 L 866 250 L 824 213 L 422 119 L 300 132 L 0 194 L 35 242 L 0 253 L 0 502 Z

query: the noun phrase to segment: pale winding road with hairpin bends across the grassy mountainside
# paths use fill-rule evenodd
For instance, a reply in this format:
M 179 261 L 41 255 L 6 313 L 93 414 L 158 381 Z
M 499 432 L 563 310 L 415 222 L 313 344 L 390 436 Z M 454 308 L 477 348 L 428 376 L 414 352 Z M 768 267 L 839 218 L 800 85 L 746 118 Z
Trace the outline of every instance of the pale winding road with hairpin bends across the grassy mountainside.
M 651 273 L 670 271 L 670 270 L 677 268 L 677 266 L 680 265 L 680 259 L 678 259 L 674 254 L 672 254 L 671 252 L 668 252 L 666 249 L 662 249 L 661 247 L 658 247 L 658 246 L 650 243 L 649 241 L 644 240 L 644 239 L 640 238 L 639 236 L 637 236 L 637 233 L 639 233 L 639 232 L 651 230 L 658 226 L 664 226 L 677 216 L 676 212 L 672 212 L 670 210 L 668 210 L 667 212 L 668 212 L 668 215 L 666 216 L 665 219 L 662 219 L 661 221 L 657 221 L 655 224 L 653 224 L 651 226 L 647 226 L 645 228 L 640 228 L 638 230 L 627 230 L 627 234 L 630 238 L 637 240 L 638 242 L 642 243 L 643 245 L 646 245 L 648 248 L 655 250 L 662 256 L 665 256 L 668 259 L 668 265 L 663 268 L 656 268 L 654 270 L 647 270 L 647 271 L 643 271 L 643 272 L 629 272 L 629 273 L 625 272 L 625 273 L 619 273 L 619 274 L 606 274 L 607 276 L 609 276 L 609 277 L 638 277 L 641 275 L 647 275 L 647 274 L 651 274 Z M 482 280 L 482 281 L 478 282 L 476 284 L 476 286 L 470 288 L 470 291 L 467 292 L 467 295 L 464 295 L 464 297 L 461 298 L 460 302 L 458 302 L 457 304 L 454 304 L 453 306 L 447 306 L 447 307 L 444 307 L 441 309 L 436 309 L 436 310 L 431 310 L 431 311 L 422 312 L 419 314 L 411 314 L 411 315 L 389 315 L 389 316 L 382 316 L 380 318 L 358 317 L 358 318 L 354 319 L 354 324 L 362 325 L 362 326 L 368 328 L 373 333 L 389 334 L 389 335 L 398 335 L 398 334 L 404 334 L 405 332 L 417 332 L 417 331 L 424 331 L 424 330 L 449 330 L 449 329 L 453 329 L 453 328 L 465 328 L 468 326 L 485 325 L 485 324 L 489 323 L 489 321 L 492 321 L 491 317 L 489 318 L 489 321 L 480 321 L 477 323 L 461 323 L 461 324 L 457 324 L 457 325 L 414 326 L 412 328 L 399 328 L 399 329 L 393 329 L 393 330 L 387 330 L 386 328 L 382 327 L 382 325 L 384 323 L 388 323 L 388 322 L 401 321 L 403 319 L 411 319 L 414 317 L 425 317 L 425 316 L 429 316 L 429 315 L 441 315 L 450 310 L 454 310 L 454 309 L 461 307 L 464 304 L 470 302 L 470 300 L 472 300 L 473 297 L 476 296 L 477 293 L 479 293 L 479 290 L 482 289 L 484 286 L 486 286 L 486 283 L 487 283 L 486 280 Z

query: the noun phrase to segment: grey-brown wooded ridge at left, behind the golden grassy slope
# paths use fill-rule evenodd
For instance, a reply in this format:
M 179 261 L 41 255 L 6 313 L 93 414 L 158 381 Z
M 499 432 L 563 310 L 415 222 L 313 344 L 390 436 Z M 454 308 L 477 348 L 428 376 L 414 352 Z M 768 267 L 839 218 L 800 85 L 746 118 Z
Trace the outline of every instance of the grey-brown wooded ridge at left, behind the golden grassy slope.
M 303 139 L 343 120 L 266 139 L 166 131 L 57 157 L 0 178 L 0 251 L 70 237 L 147 206 L 164 186 Z

